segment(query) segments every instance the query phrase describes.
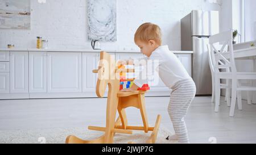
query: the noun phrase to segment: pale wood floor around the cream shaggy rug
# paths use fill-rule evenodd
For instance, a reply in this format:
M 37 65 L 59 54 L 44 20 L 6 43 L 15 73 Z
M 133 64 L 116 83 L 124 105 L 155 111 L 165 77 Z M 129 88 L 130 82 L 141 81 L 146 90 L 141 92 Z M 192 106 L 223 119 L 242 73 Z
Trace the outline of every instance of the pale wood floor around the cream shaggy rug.
M 255 104 L 243 101 L 243 111 L 236 108 L 234 118 L 230 118 L 225 102 L 221 102 L 220 112 L 216 113 L 210 99 L 196 97 L 189 108 L 185 122 L 191 143 L 209 143 L 210 137 L 215 137 L 217 143 L 256 143 Z M 153 125 L 156 115 L 161 114 L 161 125 L 174 132 L 167 112 L 168 101 L 168 97 L 146 98 L 147 115 Z M 105 110 L 106 98 L 0 100 L 0 130 L 104 127 Z M 131 125 L 142 124 L 136 108 L 127 109 L 127 118 Z

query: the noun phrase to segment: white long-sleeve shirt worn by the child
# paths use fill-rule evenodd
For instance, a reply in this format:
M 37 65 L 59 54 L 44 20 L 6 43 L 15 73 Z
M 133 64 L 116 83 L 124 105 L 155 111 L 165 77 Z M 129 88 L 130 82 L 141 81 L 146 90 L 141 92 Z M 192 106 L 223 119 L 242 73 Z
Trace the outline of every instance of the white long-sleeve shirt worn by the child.
M 157 76 L 159 76 L 163 83 L 170 89 L 181 79 L 191 78 L 180 60 L 169 50 L 168 45 L 156 48 L 151 56 L 144 58 L 144 60 L 147 62 L 151 60 L 152 66 L 149 66 L 151 63 L 147 63 L 147 67 L 142 70 L 139 78 L 134 80 L 135 85 L 139 87 L 142 87 L 145 83 L 149 83 L 151 86 L 152 81 L 154 81 L 153 85 L 158 85 L 158 83 L 156 83 L 158 80 L 155 80 Z M 150 73 L 151 75 L 147 73 L 148 68 L 154 68 L 152 73 Z M 145 71 L 145 69 L 147 71 Z M 145 76 L 142 76 L 142 73 L 147 73 L 146 78 L 143 78 Z

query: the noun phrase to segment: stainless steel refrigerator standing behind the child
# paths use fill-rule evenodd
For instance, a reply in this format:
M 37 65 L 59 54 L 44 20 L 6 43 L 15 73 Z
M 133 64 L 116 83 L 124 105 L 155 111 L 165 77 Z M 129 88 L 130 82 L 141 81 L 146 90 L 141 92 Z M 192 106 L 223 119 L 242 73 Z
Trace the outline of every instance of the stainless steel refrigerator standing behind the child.
M 193 10 L 181 19 L 181 50 L 193 51 L 192 78 L 196 95 L 212 94 L 208 49 L 209 36 L 219 33 L 218 11 Z

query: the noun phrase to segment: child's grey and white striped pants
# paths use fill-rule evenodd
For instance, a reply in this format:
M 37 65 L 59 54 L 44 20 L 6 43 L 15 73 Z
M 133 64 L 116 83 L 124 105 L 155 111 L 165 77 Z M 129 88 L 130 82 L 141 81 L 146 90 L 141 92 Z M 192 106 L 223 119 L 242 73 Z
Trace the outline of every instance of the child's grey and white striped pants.
M 196 95 L 195 82 L 192 79 L 183 79 L 175 83 L 171 88 L 172 93 L 168 106 L 174 131 L 179 143 L 189 143 L 187 127 L 184 117 L 187 114 L 188 107 Z

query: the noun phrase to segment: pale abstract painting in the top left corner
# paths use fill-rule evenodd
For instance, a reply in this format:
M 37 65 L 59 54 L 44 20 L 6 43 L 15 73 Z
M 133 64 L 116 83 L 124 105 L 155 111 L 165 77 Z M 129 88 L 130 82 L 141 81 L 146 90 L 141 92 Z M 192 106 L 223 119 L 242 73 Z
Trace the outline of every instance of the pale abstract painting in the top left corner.
M 30 29 L 30 0 L 0 0 L 0 28 Z

